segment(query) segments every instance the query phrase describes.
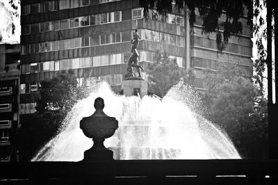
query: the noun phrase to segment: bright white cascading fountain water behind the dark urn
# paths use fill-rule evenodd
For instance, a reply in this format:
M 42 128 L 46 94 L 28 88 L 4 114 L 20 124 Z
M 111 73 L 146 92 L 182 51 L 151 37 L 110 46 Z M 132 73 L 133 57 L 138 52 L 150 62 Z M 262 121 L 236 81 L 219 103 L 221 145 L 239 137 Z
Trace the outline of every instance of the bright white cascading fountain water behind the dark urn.
M 115 95 L 107 83 L 100 83 L 88 98 L 72 108 L 60 134 L 32 161 L 81 161 L 92 140 L 84 136 L 79 122 L 95 111 L 93 103 L 97 97 L 104 99 L 104 112 L 119 121 L 119 129 L 104 142 L 114 151 L 115 159 L 240 158 L 220 129 L 190 111 L 190 105 L 186 104 L 188 90 L 182 83 L 163 99 Z

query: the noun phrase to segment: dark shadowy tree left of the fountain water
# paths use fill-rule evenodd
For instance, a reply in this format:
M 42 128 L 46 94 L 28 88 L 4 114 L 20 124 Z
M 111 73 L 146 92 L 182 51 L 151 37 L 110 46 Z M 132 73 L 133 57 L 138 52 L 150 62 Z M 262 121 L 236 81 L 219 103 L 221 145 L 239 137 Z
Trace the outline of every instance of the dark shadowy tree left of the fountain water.
M 58 72 L 52 79 L 41 82 L 37 111 L 28 115 L 26 120 L 21 120 L 22 127 L 17 133 L 22 160 L 30 160 L 40 147 L 58 133 L 65 116 L 82 97 L 72 71 Z

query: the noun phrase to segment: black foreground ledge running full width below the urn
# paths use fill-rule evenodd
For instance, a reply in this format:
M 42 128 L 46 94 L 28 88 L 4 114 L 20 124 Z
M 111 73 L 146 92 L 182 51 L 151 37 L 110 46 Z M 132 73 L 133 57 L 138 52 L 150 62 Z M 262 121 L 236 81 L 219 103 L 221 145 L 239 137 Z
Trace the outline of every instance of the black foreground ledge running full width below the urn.
M 0 163 L 0 184 L 278 184 L 278 161 Z

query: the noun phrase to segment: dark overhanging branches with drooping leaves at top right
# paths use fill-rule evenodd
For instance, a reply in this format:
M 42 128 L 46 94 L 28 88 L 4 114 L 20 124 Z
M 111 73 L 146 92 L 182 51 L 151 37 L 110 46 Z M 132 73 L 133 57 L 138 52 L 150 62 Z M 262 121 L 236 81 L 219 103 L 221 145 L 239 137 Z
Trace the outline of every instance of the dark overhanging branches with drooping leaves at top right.
M 245 9 L 247 10 L 247 24 L 250 29 L 253 27 L 252 0 L 139 0 L 139 4 L 144 8 L 145 17 L 148 17 L 149 9 L 156 9 L 158 13 L 165 15 L 175 13 L 175 11 L 181 12 L 187 7 L 191 27 L 196 21 L 195 10 L 199 10 L 199 17 L 203 20 L 203 33 L 216 33 L 216 42 L 220 51 L 227 45 L 231 35 L 242 33 L 243 25 L 240 17 L 244 15 Z M 226 20 L 220 24 L 221 15 L 226 15 Z M 221 33 L 220 29 L 224 32 Z

